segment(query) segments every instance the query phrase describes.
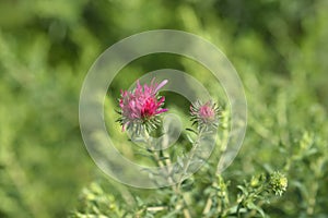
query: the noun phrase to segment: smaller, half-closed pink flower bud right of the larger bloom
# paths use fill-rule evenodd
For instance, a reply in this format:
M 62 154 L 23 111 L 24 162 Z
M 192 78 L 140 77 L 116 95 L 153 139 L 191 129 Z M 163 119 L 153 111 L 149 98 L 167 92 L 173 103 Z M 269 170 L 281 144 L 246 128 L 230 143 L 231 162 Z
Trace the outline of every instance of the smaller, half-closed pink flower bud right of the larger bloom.
M 214 126 L 218 128 L 218 122 L 220 118 L 221 110 L 212 101 L 207 101 L 202 104 L 201 101 L 196 101 L 190 106 L 190 114 L 192 124 L 198 124 L 201 126 Z

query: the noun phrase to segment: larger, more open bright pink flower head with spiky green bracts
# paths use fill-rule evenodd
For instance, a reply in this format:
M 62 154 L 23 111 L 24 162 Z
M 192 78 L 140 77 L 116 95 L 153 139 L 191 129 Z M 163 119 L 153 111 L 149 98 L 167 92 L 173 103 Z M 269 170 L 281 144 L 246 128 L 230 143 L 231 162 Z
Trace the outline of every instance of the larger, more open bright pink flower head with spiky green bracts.
M 134 124 L 147 124 L 148 129 L 159 124 L 157 114 L 166 112 L 167 109 L 162 108 L 165 97 L 159 96 L 159 90 L 167 83 L 164 80 L 160 84 L 152 80 L 150 86 L 140 85 L 137 81 L 137 87 L 132 90 L 121 90 L 121 98 L 119 99 L 119 107 L 121 118 L 118 122 L 128 129 Z

